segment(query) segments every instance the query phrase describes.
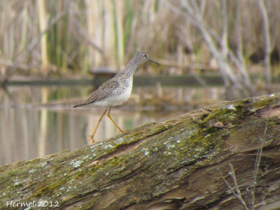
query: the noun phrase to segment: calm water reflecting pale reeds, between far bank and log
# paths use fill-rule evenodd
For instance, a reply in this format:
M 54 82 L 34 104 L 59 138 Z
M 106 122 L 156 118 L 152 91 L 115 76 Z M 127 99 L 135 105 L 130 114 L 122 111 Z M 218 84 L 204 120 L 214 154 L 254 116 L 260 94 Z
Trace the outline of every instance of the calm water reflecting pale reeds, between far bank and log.
M 104 109 L 72 107 L 78 97 L 85 99 L 89 92 L 90 87 L 69 86 L 0 90 L 0 165 L 88 144 Z M 136 87 L 131 99 L 113 108 L 111 116 L 123 130 L 130 130 L 214 103 L 221 100 L 221 95 L 223 89 L 217 87 Z M 104 118 L 94 139 L 104 141 L 116 134 L 118 129 Z

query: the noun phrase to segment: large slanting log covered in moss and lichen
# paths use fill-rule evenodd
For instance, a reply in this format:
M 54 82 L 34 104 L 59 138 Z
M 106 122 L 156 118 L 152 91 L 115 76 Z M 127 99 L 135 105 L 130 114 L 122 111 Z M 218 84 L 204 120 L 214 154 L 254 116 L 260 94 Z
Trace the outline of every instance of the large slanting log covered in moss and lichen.
M 223 102 L 76 151 L 5 165 L 0 208 L 279 207 L 279 116 L 280 93 Z

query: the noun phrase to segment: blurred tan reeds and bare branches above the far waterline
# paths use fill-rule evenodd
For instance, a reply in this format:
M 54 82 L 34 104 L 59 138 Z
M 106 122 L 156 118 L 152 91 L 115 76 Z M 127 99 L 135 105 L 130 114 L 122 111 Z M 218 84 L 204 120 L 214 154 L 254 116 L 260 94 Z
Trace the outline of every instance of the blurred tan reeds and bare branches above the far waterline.
M 13 0 L 0 10 L 2 74 L 120 69 L 136 50 L 166 64 L 151 74 L 220 69 L 246 94 L 252 73 L 269 85 L 280 72 L 278 0 Z

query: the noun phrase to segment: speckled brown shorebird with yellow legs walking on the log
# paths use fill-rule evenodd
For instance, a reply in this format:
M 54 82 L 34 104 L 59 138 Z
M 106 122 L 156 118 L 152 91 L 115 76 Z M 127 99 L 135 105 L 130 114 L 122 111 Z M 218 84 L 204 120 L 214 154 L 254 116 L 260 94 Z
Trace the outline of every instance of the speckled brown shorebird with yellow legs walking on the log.
M 90 97 L 88 97 L 85 102 L 73 106 L 73 108 L 86 105 L 106 107 L 105 111 L 102 113 L 102 116 L 98 120 L 97 126 L 94 128 L 94 131 L 90 136 L 89 141 L 91 140 L 92 144 L 95 143 L 94 134 L 95 132 L 97 132 L 97 128 L 99 127 L 99 124 L 101 123 L 102 118 L 107 111 L 108 118 L 118 128 L 119 132 L 124 132 L 118 126 L 116 121 L 111 118 L 111 108 L 112 106 L 123 104 L 123 102 L 127 101 L 127 99 L 130 97 L 130 94 L 132 92 L 134 72 L 141 64 L 144 64 L 145 62 L 153 62 L 155 64 L 159 64 L 158 62 L 155 62 L 150 57 L 148 57 L 146 52 L 139 51 L 134 55 L 132 60 L 127 63 L 127 66 L 125 66 L 125 69 L 123 69 L 123 71 L 120 71 L 120 73 L 118 73 L 116 76 L 100 85 L 97 90 L 94 90 L 90 94 Z

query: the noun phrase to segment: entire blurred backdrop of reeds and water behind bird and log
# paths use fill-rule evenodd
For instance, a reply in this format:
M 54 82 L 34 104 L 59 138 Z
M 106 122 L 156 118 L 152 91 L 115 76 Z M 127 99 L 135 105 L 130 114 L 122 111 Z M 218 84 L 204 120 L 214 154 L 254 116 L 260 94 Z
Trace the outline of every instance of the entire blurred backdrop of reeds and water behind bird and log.
M 89 144 L 83 101 L 137 50 L 146 63 L 111 116 L 123 130 L 279 91 L 280 1 L 0 1 L 0 165 Z M 118 134 L 104 118 L 95 135 Z

